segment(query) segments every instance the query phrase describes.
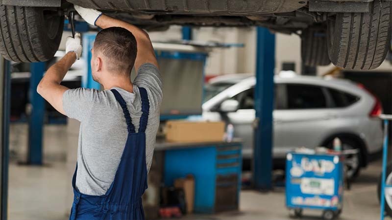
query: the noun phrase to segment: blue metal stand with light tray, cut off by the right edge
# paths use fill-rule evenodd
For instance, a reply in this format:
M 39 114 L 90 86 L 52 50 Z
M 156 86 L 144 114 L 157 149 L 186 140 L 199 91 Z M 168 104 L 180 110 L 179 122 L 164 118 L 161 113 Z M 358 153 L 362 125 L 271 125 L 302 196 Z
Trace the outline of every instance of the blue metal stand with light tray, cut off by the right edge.
M 387 176 L 387 158 L 388 158 L 388 125 L 389 121 L 392 121 L 392 115 L 386 115 L 386 114 L 381 114 L 380 118 L 384 121 L 384 144 L 383 144 L 383 167 L 382 167 L 382 172 L 381 172 L 381 189 L 380 189 L 380 203 L 381 203 L 381 209 L 380 209 L 380 219 L 384 220 L 385 218 L 385 202 L 387 202 L 387 205 L 389 206 L 389 209 L 391 209 L 391 198 L 385 195 L 385 189 L 386 188 L 391 188 L 391 180 L 390 178 L 386 179 Z M 388 173 L 388 176 L 391 174 Z M 385 199 L 381 199 L 385 198 Z M 388 200 L 387 200 L 388 199 Z M 387 200 L 387 201 L 386 201 Z M 391 212 L 387 212 L 387 214 L 391 215 Z

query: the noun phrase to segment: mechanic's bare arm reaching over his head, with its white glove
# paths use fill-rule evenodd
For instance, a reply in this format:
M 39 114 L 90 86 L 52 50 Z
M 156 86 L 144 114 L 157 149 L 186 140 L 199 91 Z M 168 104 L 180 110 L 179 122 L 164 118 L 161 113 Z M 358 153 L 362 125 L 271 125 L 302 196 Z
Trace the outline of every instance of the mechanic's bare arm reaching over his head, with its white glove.
M 123 27 L 129 30 L 136 39 L 137 42 L 137 55 L 135 60 L 135 70 L 137 71 L 140 66 L 145 63 L 151 63 L 158 67 L 158 62 L 155 57 L 154 49 L 152 48 L 151 40 L 148 34 L 127 22 L 123 22 L 118 19 L 111 18 L 109 16 L 103 15 L 101 12 L 95 9 L 83 8 L 78 5 L 74 6 L 79 15 L 88 23 L 92 25 L 97 25 L 101 28 L 108 27 Z

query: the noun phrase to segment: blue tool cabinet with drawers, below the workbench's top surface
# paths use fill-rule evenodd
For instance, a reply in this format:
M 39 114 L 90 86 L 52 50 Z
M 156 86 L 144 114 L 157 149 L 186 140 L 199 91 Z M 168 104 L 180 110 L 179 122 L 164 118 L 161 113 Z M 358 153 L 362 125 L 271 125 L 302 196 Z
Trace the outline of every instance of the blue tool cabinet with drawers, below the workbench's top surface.
M 241 142 L 194 143 L 185 146 L 172 146 L 165 150 L 165 185 L 172 186 L 176 178 L 192 174 L 195 177 L 196 213 L 238 210 Z

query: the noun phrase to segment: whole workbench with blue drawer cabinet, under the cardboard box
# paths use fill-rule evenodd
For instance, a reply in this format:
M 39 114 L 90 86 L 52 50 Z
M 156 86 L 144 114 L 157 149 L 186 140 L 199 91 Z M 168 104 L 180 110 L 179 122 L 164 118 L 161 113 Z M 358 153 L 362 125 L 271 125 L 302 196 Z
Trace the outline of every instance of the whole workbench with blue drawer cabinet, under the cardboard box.
M 145 213 L 159 207 L 160 187 L 191 174 L 195 178 L 195 213 L 238 210 L 241 189 L 242 143 L 172 143 L 158 139 L 144 196 Z M 152 216 L 151 216 L 152 218 Z

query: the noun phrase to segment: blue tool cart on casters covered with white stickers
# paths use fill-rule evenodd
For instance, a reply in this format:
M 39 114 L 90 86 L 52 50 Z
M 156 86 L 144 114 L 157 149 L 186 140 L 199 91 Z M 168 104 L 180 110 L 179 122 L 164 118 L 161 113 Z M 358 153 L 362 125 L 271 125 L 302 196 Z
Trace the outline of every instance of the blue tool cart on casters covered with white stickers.
M 323 210 L 324 220 L 342 212 L 342 154 L 289 153 L 286 160 L 286 205 L 296 216 L 303 209 Z

